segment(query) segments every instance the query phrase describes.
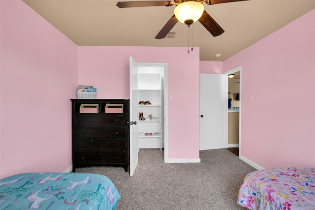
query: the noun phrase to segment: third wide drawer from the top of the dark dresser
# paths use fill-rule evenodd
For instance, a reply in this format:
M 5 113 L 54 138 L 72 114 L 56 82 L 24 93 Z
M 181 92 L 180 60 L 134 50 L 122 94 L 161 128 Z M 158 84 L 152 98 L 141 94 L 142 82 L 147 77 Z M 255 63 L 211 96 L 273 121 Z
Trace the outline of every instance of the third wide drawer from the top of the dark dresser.
M 125 150 L 124 140 L 76 140 L 75 148 L 79 150 Z

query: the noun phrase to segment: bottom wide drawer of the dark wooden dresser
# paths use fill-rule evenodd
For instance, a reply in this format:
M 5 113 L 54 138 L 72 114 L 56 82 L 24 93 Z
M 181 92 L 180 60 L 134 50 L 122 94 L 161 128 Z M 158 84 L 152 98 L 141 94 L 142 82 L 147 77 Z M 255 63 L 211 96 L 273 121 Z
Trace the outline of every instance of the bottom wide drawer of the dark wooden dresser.
M 122 163 L 125 152 L 76 152 L 76 163 Z

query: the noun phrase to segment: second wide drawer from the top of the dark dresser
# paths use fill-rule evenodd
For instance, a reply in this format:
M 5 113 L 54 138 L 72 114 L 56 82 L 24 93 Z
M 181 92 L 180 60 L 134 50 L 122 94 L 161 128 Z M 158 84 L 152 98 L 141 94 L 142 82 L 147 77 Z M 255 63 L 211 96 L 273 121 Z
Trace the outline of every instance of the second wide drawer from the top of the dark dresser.
M 91 139 L 91 138 L 125 138 L 124 127 L 106 127 L 106 128 L 82 128 L 76 129 L 77 139 Z

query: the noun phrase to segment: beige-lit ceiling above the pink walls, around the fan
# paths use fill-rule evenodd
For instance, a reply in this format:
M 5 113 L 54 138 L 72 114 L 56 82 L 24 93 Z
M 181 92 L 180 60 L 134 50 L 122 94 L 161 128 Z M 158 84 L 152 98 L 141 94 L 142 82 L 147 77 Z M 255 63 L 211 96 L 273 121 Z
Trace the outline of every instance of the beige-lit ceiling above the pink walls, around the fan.
M 118 1 L 124 0 L 24 0 L 79 46 L 188 48 L 188 27 L 180 22 L 170 31 L 176 33 L 174 38 L 155 39 L 175 6 L 118 8 Z M 199 22 L 190 27 L 192 46 L 200 48 L 202 61 L 223 61 L 315 9 L 315 0 L 203 4 L 225 32 L 213 37 Z

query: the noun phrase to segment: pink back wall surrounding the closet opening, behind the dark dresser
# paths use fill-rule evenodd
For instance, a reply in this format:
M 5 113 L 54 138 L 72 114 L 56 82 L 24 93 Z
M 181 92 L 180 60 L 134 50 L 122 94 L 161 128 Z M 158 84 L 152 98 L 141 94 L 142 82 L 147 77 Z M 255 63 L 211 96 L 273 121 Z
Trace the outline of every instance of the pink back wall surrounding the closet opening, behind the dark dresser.
M 199 158 L 199 49 L 79 47 L 79 84 L 97 88 L 97 98 L 129 98 L 129 57 L 168 63 L 168 158 Z M 93 70 L 93 73 L 91 72 Z

